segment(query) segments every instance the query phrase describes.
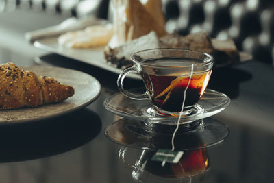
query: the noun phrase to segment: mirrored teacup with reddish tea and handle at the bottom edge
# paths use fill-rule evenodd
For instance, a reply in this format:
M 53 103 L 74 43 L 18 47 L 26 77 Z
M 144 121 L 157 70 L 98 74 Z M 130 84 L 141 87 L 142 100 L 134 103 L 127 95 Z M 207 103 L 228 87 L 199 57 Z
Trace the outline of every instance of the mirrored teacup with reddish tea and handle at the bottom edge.
M 122 162 L 132 169 L 132 176 L 136 180 L 149 179 L 149 175 L 155 175 L 159 178 L 184 179 L 194 178 L 206 173 L 210 168 L 210 160 L 206 148 L 184 151 L 182 158 L 177 163 L 162 162 L 151 160 L 155 151 L 142 150 L 139 160 L 135 164 L 128 164 L 125 160 L 125 154 L 129 152 L 127 147 L 120 151 Z M 147 175 L 147 173 L 149 173 Z

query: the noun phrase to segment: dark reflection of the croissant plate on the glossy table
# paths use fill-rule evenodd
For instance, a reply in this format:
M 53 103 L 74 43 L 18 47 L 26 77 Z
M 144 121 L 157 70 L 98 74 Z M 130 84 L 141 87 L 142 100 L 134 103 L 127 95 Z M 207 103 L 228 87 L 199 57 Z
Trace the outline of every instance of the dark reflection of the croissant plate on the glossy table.
M 62 154 L 88 143 L 100 131 L 99 116 L 88 109 L 49 120 L 0 125 L 0 162 Z

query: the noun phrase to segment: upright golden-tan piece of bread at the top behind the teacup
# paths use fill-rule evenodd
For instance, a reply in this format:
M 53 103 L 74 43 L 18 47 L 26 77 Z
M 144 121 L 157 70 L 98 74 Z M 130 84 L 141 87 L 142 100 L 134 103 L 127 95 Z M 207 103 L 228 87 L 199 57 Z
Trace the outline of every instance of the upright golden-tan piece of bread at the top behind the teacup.
M 113 0 L 114 36 L 122 45 L 154 31 L 159 37 L 166 33 L 164 25 L 158 23 L 139 0 Z M 148 5 L 149 7 L 149 5 Z

